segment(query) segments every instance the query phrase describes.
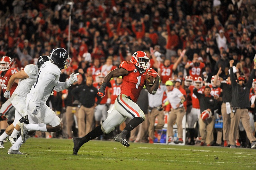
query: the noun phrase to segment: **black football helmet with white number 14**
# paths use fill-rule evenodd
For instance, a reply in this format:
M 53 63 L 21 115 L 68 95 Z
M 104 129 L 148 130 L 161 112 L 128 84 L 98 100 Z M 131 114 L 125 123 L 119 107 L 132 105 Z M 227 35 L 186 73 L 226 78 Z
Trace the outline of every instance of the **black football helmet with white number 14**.
M 67 69 L 69 65 L 69 55 L 64 48 L 55 48 L 50 53 L 50 61 L 60 69 Z

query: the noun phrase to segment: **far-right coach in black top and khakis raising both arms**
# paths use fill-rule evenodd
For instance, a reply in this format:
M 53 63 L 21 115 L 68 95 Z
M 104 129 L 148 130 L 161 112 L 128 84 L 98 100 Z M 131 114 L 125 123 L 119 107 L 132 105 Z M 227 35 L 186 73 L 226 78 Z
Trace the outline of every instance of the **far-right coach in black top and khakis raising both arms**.
M 246 131 L 246 135 L 248 139 L 251 142 L 252 149 L 256 147 L 256 138 L 252 134 L 252 129 L 250 127 L 250 117 L 248 114 L 248 107 L 250 107 L 250 101 L 249 101 L 249 93 L 250 89 L 252 87 L 252 81 L 255 75 L 255 69 L 256 69 L 256 62 L 253 61 L 254 67 L 252 69 L 252 73 L 250 74 L 249 80 L 246 83 L 246 77 L 243 75 L 240 75 L 238 77 L 238 83 L 236 82 L 236 78 L 233 72 L 233 63 L 234 60 L 229 61 L 230 66 L 230 79 L 231 79 L 231 86 L 232 86 L 232 100 L 231 100 L 231 122 L 230 122 L 230 148 L 236 148 L 235 144 L 235 136 L 237 133 L 239 121 L 241 118 L 242 124 L 244 126 L 244 129 Z

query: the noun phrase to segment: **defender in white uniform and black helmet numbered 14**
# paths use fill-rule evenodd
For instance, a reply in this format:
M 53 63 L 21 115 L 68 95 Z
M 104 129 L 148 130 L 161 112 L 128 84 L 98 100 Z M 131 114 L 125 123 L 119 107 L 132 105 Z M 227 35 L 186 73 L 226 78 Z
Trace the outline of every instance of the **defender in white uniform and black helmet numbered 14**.
M 41 66 L 36 82 L 33 84 L 30 93 L 26 98 L 28 109 L 28 120 L 30 124 L 21 123 L 21 137 L 8 150 L 11 154 L 19 150 L 22 143 L 25 143 L 28 132 L 57 132 L 61 129 L 60 118 L 46 105 L 46 101 L 52 90 L 62 91 L 77 81 L 77 75 L 71 74 L 68 81 L 60 82 L 60 69 L 66 69 L 69 65 L 67 50 L 63 48 L 53 49 L 50 53 L 50 61 Z M 41 123 L 42 122 L 42 123 Z M 20 152 L 21 153 L 21 152 Z

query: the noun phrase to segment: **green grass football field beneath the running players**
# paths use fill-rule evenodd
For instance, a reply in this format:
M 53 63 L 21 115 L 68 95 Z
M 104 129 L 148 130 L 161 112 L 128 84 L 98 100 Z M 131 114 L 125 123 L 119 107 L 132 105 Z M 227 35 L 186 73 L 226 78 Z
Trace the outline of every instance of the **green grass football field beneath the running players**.
M 92 140 L 72 155 L 71 139 L 30 138 L 20 151 L 0 149 L 0 169 L 256 169 L 256 149 Z

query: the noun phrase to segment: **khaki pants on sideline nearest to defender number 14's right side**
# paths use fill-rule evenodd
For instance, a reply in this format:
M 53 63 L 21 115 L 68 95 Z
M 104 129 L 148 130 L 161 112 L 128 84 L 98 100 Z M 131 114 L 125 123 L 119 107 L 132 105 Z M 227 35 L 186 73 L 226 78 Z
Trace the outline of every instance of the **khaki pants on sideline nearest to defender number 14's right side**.
M 74 137 L 72 133 L 72 125 L 74 123 L 74 114 L 76 118 L 78 117 L 78 107 L 67 106 L 66 108 L 66 127 L 68 137 Z

